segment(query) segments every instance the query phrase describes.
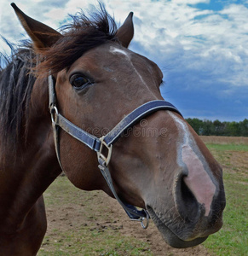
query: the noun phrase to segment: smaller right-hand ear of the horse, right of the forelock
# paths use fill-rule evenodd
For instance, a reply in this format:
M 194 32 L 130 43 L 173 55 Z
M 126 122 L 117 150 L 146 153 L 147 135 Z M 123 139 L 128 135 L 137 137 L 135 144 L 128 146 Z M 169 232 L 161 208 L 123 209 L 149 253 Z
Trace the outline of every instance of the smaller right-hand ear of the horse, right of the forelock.
M 124 24 L 119 27 L 116 34 L 119 42 L 126 48 L 128 48 L 132 38 L 134 37 L 134 24 L 133 24 L 133 12 L 130 12 Z

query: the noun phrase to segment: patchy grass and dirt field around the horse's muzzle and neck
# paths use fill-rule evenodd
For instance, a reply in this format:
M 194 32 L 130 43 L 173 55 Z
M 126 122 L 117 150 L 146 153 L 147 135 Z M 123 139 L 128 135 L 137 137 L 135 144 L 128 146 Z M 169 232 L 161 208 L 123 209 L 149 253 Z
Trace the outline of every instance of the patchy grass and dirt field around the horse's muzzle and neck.
M 222 230 L 203 245 L 170 248 L 153 224 L 141 230 L 107 195 L 58 177 L 45 193 L 49 229 L 38 255 L 248 255 L 248 138 L 202 139 L 223 167 L 227 197 Z

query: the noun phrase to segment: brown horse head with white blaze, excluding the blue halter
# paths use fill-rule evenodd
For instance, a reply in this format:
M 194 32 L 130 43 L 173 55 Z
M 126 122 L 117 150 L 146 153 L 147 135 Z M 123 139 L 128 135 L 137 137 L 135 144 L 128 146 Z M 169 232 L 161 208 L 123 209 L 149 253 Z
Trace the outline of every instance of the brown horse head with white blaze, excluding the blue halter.
M 13 7 L 43 56 L 32 102 L 41 102 L 38 83 L 50 73 L 58 113 L 103 137 L 141 105 L 164 101 L 159 67 L 128 49 L 134 35 L 132 13 L 118 30 L 110 31 L 111 19 L 101 10 L 98 20 L 84 16 L 59 33 Z M 47 102 L 47 84 L 43 90 Z M 113 196 L 95 151 L 62 129 L 57 137 L 61 166 L 70 181 L 80 189 L 102 189 Z M 159 109 L 123 131 L 112 145 L 108 169 L 118 198 L 147 209 L 170 246 L 198 245 L 222 227 L 222 168 L 180 113 Z

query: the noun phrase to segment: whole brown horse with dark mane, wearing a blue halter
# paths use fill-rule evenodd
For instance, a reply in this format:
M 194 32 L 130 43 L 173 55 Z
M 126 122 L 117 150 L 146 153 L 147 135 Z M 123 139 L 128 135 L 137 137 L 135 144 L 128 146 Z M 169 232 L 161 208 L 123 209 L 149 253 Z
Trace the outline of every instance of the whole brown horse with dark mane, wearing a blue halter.
M 132 13 L 116 29 L 101 7 L 60 33 L 12 6 L 32 44 L 0 73 L 0 255 L 37 253 L 43 192 L 61 168 L 78 188 L 116 196 L 130 218 L 150 215 L 172 247 L 219 230 L 222 168 L 164 102 L 159 67 L 128 49 Z

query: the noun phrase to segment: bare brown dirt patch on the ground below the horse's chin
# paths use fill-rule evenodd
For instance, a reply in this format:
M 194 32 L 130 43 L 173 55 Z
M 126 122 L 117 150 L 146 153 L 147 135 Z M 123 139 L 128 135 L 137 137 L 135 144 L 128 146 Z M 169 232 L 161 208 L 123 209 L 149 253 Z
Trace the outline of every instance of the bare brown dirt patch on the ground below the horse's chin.
M 100 208 L 104 209 L 105 206 L 107 206 L 106 211 L 109 211 L 111 219 L 101 217 L 101 212 L 98 212 Z M 142 230 L 139 223 L 129 220 L 117 201 L 103 192 L 97 192 L 97 196 L 93 195 L 92 198 L 90 198 L 90 208 L 91 214 L 95 214 L 95 217 L 97 218 L 95 224 L 92 223 L 92 219 L 89 219 L 89 215 L 82 214 L 82 206 L 72 204 L 70 207 L 66 208 L 63 206 L 47 207 L 47 217 L 49 222 L 47 235 L 60 238 L 61 231 L 77 229 L 78 224 L 83 224 L 85 226 L 90 225 L 91 230 L 119 230 L 124 236 L 134 237 L 141 242 L 147 242 L 149 243 L 149 248 L 153 255 L 212 255 L 211 253 L 208 253 L 202 245 L 187 249 L 175 249 L 168 246 L 153 223 L 149 224 L 147 230 Z M 49 247 L 49 244 L 46 244 L 46 242 L 43 243 L 43 248 L 45 247 Z M 50 252 L 52 252 L 52 250 Z

